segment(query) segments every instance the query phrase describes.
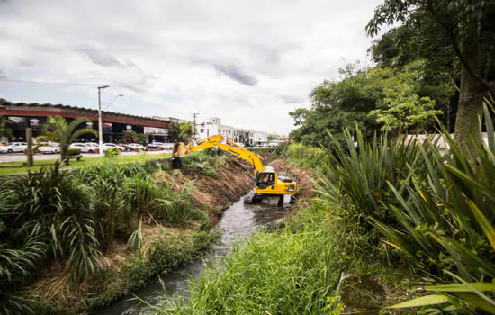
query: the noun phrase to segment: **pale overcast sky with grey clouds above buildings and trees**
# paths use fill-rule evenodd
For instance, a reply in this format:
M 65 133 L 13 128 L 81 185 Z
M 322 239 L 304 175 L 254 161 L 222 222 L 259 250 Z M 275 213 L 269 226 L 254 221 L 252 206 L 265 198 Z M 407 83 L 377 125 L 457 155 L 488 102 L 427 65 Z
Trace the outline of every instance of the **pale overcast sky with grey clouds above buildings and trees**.
M 381 3 L 0 0 L 0 97 L 97 108 L 107 84 L 109 111 L 287 134 L 313 87 L 368 60 Z

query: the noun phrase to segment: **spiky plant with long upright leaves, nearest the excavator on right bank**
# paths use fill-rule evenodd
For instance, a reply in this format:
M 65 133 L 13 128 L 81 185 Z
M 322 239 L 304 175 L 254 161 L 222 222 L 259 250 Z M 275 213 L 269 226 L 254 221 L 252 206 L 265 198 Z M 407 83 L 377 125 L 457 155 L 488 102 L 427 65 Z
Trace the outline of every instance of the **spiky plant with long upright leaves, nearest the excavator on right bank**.
M 365 142 L 356 130 L 357 148 L 348 130 L 345 130 L 346 147 L 338 147 L 320 166 L 320 193 L 318 201 L 325 209 L 358 224 L 367 224 L 370 217 L 395 224 L 390 211 L 383 204 L 397 203 L 388 183 L 410 181 L 410 169 L 424 169 L 419 163 L 421 145 L 405 138 L 389 139 L 386 134 Z M 419 171 L 421 173 L 421 171 Z M 341 211 L 339 211 L 341 210 Z M 371 228 L 371 227 L 366 227 Z

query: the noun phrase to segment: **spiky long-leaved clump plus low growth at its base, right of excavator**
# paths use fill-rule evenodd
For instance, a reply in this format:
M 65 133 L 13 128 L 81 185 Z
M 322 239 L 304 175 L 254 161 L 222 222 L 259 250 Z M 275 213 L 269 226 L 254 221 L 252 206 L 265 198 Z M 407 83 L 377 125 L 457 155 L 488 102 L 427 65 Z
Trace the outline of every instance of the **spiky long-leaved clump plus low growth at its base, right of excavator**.
M 391 139 L 387 134 L 374 135 L 366 141 L 356 130 L 355 137 L 344 131 L 344 144 L 334 139 L 334 149 L 328 150 L 315 182 L 320 207 L 333 214 L 335 233 L 342 236 L 346 255 L 354 259 L 364 248 L 369 257 L 382 255 L 379 247 L 381 233 L 370 219 L 377 218 L 396 225 L 397 220 L 383 204 L 398 203 L 389 183 L 411 180 L 411 169 L 424 169 L 420 163 L 421 144 L 406 141 L 405 137 Z M 386 254 L 386 253 L 385 253 Z

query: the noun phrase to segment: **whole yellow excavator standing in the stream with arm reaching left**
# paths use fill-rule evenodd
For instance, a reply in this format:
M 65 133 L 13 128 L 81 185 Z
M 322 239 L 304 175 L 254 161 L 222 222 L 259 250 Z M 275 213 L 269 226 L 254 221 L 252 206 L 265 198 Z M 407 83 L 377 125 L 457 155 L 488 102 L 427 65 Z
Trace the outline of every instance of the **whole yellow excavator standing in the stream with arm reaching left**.
M 221 148 L 236 157 L 247 160 L 247 162 L 254 166 L 255 188 L 251 193 L 247 194 L 244 202 L 253 203 L 261 201 L 268 196 L 275 196 L 278 197 L 275 198 L 276 202 L 280 204 L 287 197 L 290 200 L 297 193 L 297 183 L 292 178 L 279 175 L 272 166 L 263 166 L 261 158 L 256 153 L 238 146 L 229 139 L 223 138 L 222 135 L 200 139 L 187 145 L 182 142 L 175 143 L 172 153 L 172 164 L 173 166 L 182 166 L 182 156 L 212 147 Z M 283 198 L 284 195 L 285 198 Z

